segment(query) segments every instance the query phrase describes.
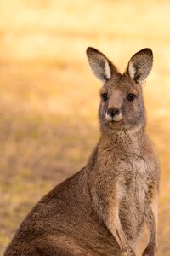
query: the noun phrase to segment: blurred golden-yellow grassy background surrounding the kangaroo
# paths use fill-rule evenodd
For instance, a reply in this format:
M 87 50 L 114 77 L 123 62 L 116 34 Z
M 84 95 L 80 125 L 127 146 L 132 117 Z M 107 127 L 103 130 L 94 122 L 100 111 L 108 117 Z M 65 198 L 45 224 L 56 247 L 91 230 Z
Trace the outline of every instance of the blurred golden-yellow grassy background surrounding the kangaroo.
M 170 255 L 170 3 L 152 0 L 0 1 L 1 255 L 31 207 L 84 166 L 99 139 L 88 46 L 121 71 L 135 52 L 154 51 L 144 97 L 161 160 L 158 255 Z

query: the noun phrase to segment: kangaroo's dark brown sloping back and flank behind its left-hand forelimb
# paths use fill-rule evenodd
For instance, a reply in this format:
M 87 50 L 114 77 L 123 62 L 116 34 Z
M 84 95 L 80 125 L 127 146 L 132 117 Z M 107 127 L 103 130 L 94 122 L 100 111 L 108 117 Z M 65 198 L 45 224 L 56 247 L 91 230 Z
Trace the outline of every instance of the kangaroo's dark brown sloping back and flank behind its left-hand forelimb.
M 59 184 L 33 207 L 5 255 L 97 256 L 119 251 L 94 212 L 85 171 Z

